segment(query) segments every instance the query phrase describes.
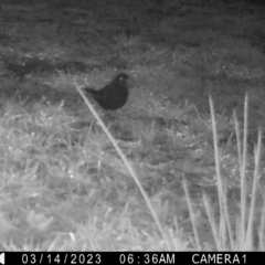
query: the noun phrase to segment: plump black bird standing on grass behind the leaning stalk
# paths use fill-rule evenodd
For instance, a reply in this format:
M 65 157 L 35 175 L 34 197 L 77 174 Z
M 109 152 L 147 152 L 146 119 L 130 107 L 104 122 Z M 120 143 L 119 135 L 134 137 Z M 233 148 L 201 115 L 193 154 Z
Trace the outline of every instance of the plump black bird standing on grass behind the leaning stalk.
M 128 78 L 127 74 L 118 74 L 108 85 L 99 91 L 89 87 L 84 87 L 83 89 L 89 93 L 103 108 L 115 110 L 121 108 L 127 102 L 129 95 Z

